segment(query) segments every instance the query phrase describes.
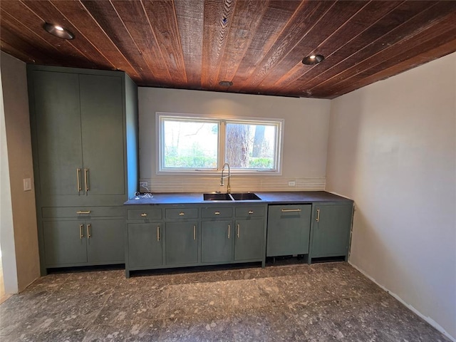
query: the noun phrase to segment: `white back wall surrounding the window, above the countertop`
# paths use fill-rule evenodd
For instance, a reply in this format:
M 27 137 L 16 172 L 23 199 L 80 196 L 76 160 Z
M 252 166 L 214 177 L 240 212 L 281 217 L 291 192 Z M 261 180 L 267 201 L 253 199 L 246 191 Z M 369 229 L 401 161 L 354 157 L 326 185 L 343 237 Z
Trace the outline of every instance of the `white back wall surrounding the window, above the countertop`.
M 232 190 L 324 190 L 329 100 L 139 88 L 140 179 L 155 192 L 219 190 L 219 176 L 156 175 L 155 112 L 284 119 L 281 176 L 234 176 Z M 296 180 L 296 187 L 288 187 Z

